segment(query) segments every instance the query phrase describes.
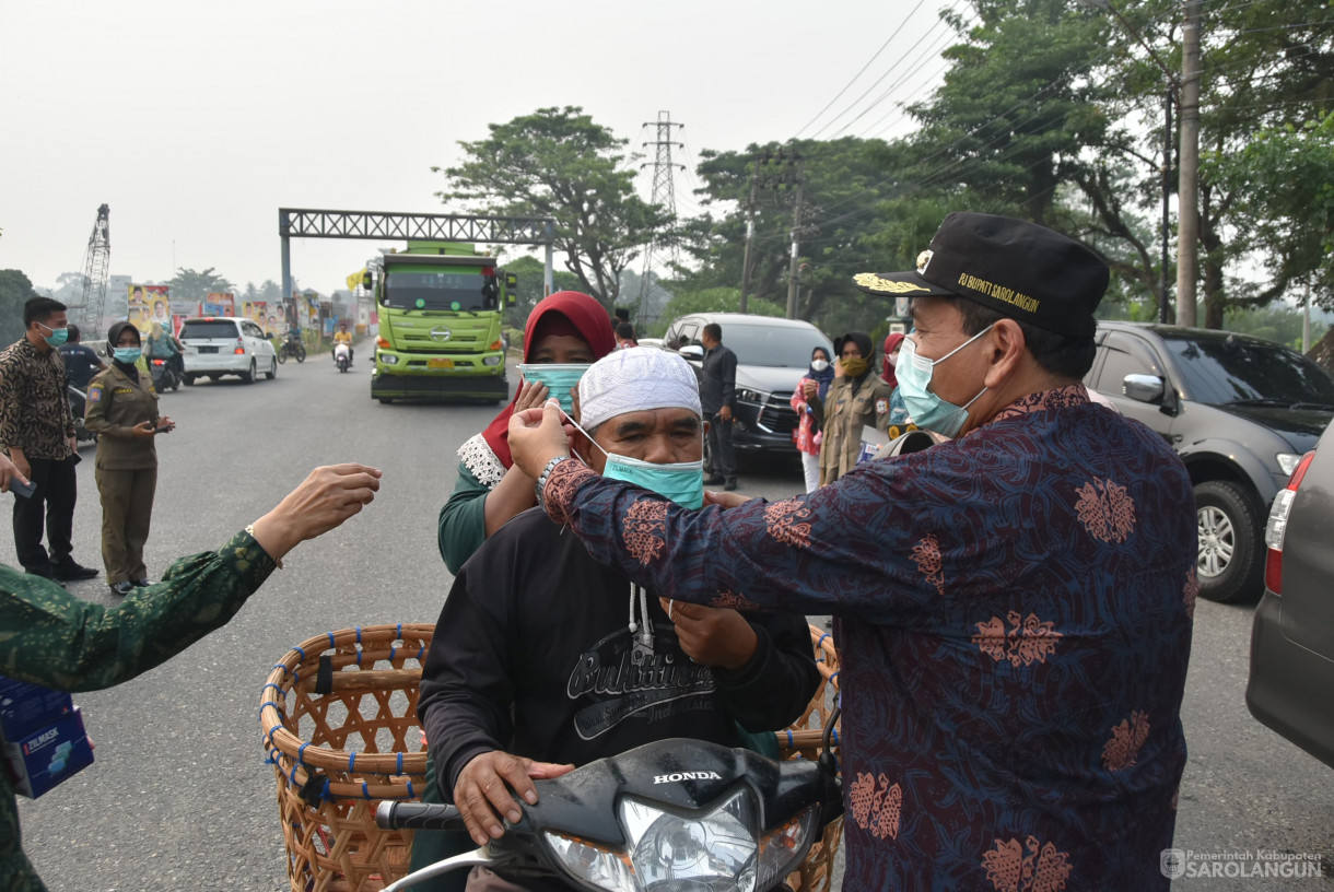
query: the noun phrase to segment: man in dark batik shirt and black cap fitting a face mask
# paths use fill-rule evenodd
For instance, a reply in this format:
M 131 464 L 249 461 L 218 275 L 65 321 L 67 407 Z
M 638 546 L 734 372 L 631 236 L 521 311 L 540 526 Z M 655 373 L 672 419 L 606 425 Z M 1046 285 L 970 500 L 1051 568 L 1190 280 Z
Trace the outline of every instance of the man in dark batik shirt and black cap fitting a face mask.
M 952 440 L 695 513 L 563 460 L 547 512 L 670 597 L 836 617 L 844 888 L 1167 889 L 1194 500 L 1162 437 L 1079 383 L 1107 268 L 976 213 L 920 264 L 855 283 L 914 297 L 899 388 Z M 510 445 L 540 472 L 558 413 L 516 415 Z

